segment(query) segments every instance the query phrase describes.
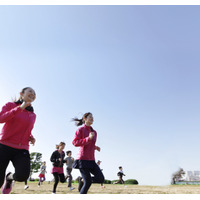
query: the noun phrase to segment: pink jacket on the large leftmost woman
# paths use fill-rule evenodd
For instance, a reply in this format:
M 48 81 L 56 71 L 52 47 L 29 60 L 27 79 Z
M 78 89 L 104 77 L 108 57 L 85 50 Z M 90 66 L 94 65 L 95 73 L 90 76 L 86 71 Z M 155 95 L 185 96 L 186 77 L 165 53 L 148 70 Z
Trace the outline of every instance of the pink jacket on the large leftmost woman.
M 29 150 L 29 139 L 35 123 L 36 115 L 19 105 L 9 102 L 0 112 L 0 123 L 4 126 L 0 133 L 0 143 L 16 149 Z

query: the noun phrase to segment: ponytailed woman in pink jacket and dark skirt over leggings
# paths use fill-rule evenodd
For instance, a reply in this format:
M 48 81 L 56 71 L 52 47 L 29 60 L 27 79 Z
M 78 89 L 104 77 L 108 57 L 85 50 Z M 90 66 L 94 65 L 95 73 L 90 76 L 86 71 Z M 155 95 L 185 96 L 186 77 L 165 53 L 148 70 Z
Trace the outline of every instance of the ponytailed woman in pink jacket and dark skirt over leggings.
M 79 181 L 80 194 L 87 194 L 92 182 L 104 182 L 104 176 L 96 164 L 94 157 L 94 151 L 100 151 L 100 147 L 95 146 L 97 132 L 91 127 L 93 123 L 92 113 L 85 113 L 82 119 L 73 118 L 73 121 L 76 122 L 77 126 L 80 126 L 83 123 L 85 124 L 76 131 L 72 143 L 74 146 L 80 147 L 78 158 L 73 165 L 74 168 L 80 170 L 84 182 L 82 184 L 81 179 Z M 91 177 L 90 173 L 92 173 L 94 177 Z

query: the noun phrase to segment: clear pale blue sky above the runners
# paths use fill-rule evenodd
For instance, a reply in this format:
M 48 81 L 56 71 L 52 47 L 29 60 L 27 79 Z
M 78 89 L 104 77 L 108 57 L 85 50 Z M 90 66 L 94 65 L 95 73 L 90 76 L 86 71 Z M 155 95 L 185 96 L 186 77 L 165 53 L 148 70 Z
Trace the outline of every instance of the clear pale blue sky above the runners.
M 0 106 L 36 91 L 30 151 L 47 179 L 60 141 L 76 158 L 71 118 L 88 111 L 106 179 L 200 170 L 199 19 L 199 6 L 0 6 Z

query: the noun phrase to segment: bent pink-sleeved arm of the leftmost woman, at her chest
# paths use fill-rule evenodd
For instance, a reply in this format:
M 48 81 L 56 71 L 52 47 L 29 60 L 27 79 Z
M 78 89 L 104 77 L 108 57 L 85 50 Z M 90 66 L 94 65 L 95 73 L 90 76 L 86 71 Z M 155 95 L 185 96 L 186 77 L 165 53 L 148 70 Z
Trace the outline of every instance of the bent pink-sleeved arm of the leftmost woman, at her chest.
M 0 112 L 0 123 L 5 123 L 8 120 L 12 119 L 17 113 L 21 112 L 22 109 L 20 106 L 11 107 L 12 103 L 7 103 L 2 107 L 2 110 Z

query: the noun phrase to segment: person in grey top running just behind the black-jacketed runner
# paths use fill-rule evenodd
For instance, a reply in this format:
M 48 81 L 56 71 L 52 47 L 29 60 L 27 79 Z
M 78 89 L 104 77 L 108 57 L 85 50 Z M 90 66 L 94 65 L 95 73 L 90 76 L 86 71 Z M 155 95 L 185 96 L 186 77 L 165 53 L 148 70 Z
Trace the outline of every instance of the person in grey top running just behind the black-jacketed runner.
M 68 187 L 69 187 L 69 191 L 74 190 L 75 188 L 72 187 L 72 164 L 74 163 L 74 158 L 72 158 L 72 152 L 71 151 L 67 151 L 67 158 L 65 159 L 66 164 L 67 164 L 67 177 L 66 180 L 69 178 L 68 180 Z

